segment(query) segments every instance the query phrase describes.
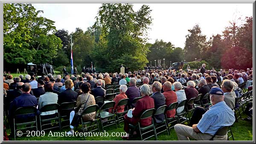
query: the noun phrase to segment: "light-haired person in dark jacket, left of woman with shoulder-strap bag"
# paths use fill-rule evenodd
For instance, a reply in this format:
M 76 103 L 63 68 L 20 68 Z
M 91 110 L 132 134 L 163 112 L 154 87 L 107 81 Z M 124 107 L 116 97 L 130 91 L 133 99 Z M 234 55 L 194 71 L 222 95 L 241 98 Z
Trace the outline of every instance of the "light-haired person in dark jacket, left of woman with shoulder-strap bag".
M 66 90 L 58 95 L 58 104 L 76 101 L 78 93 L 72 90 L 73 86 L 74 84 L 71 79 L 65 81 Z

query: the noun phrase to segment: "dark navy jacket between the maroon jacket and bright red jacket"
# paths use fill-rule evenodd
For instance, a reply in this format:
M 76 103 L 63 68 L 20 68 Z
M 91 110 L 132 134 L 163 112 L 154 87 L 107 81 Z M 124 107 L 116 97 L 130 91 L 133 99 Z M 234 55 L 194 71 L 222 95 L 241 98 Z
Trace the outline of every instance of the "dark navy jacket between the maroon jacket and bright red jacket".
M 161 92 L 155 92 L 153 95 L 151 95 L 151 98 L 154 98 L 154 108 L 157 110 L 158 107 L 161 107 L 165 105 L 165 96 Z M 154 120 L 157 123 L 163 122 L 164 114 L 155 115 Z

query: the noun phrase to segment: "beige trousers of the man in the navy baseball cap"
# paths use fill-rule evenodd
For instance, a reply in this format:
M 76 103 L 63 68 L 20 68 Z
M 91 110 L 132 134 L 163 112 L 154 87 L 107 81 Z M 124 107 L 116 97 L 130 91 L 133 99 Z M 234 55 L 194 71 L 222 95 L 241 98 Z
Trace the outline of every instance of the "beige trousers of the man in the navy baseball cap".
M 212 135 L 208 133 L 195 132 L 192 127 L 176 124 L 174 130 L 177 134 L 178 141 L 189 141 L 189 138 L 194 138 L 198 141 L 209 141 L 212 138 Z M 227 141 L 227 135 L 218 136 L 216 135 L 213 138 L 214 141 Z

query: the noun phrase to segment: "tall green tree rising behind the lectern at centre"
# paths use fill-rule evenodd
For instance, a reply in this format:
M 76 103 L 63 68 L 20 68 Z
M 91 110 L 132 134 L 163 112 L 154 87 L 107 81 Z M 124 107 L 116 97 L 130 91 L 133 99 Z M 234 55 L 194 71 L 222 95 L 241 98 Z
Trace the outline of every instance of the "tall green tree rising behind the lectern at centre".
M 109 71 L 119 71 L 119 67 L 108 66 L 117 62 L 117 65 L 127 65 L 134 67 L 132 64 L 122 63 L 122 58 L 135 58 L 141 60 L 140 65 L 135 69 L 145 66 L 148 63 L 146 54 L 147 32 L 151 24 L 151 9 L 143 5 L 138 12 L 134 12 L 133 4 L 102 4 L 96 17 L 95 27 L 101 27 L 97 50 L 93 52 L 96 55 L 104 55 L 104 58 L 97 59 L 97 64 L 102 68 L 108 68 Z M 118 60 L 120 59 L 120 60 Z M 103 61 L 106 60 L 106 61 Z

